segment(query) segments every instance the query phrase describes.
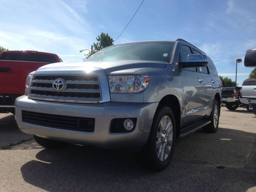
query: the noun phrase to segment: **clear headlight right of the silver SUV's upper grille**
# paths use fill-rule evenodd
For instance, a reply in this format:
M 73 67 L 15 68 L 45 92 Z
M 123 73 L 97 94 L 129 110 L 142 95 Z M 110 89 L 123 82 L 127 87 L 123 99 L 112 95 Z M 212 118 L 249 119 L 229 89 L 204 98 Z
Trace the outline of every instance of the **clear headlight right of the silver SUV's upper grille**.
M 109 75 L 108 78 L 111 93 L 138 93 L 150 83 L 146 75 Z

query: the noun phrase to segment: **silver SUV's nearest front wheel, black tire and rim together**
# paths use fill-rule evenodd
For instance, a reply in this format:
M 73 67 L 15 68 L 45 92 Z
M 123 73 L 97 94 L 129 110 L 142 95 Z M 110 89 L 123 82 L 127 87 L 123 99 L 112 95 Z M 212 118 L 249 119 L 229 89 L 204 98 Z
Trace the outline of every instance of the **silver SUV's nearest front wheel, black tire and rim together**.
M 162 126 L 164 129 L 162 129 Z M 139 153 L 140 164 L 159 172 L 172 160 L 176 142 L 176 122 L 173 111 L 163 106 L 153 120 L 150 136 Z

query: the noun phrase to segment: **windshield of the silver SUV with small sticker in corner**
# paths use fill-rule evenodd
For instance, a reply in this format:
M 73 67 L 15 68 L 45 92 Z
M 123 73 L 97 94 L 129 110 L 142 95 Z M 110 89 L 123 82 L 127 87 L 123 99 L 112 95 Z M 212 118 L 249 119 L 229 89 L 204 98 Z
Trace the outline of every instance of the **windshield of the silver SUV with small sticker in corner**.
M 148 60 L 169 62 L 174 42 L 133 42 L 106 47 L 86 61 Z

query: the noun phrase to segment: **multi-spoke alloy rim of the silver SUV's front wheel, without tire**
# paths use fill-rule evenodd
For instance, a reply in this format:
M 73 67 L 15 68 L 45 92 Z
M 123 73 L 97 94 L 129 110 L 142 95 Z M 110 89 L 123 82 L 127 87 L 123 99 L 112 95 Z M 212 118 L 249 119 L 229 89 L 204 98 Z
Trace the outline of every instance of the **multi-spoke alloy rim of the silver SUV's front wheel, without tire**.
M 170 154 L 173 143 L 173 123 L 165 115 L 159 122 L 156 138 L 156 152 L 160 161 L 164 161 Z

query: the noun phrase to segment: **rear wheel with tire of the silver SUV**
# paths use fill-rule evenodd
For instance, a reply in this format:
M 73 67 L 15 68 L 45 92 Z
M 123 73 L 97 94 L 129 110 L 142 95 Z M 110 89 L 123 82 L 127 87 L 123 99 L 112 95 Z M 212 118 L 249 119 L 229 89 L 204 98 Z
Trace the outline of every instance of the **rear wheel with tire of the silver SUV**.
M 215 99 L 212 105 L 212 110 L 210 114 L 210 124 L 203 127 L 203 131 L 207 133 L 216 133 L 219 128 L 219 118 L 220 117 L 220 106 L 218 101 Z

